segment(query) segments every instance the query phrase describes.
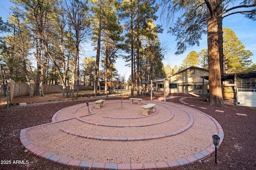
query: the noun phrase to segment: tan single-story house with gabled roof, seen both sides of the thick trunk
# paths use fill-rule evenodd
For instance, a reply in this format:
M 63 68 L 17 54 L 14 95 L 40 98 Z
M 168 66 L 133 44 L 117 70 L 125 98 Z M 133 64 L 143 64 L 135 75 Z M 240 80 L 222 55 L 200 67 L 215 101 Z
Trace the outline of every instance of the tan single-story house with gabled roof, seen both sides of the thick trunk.
M 153 80 L 154 90 L 166 93 L 208 94 L 207 69 L 190 66 L 170 77 Z M 239 106 L 256 107 L 256 71 L 222 74 L 223 98 Z M 164 90 L 165 88 L 165 90 Z

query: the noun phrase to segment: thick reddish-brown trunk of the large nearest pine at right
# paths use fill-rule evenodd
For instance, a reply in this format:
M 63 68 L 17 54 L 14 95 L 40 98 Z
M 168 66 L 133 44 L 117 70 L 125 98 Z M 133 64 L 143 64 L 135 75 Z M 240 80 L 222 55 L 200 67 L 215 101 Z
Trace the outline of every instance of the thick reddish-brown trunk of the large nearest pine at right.
M 225 106 L 222 99 L 220 55 L 218 48 L 218 16 L 216 0 L 208 1 L 207 39 L 209 63 L 210 106 Z M 210 7 L 210 9 L 209 9 Z

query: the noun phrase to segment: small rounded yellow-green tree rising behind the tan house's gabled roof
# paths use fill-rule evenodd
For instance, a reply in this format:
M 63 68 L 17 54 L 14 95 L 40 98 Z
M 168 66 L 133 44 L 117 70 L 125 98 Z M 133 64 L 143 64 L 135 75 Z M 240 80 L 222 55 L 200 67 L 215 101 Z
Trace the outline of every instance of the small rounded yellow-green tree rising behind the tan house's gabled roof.
M 187 55 L 186 59 L 182 61 L 180 68 L 184 70 L 190 66 L 197 66 L 199 64 L 198 58 L 199 58 L 198 53 L 196 53 L 196 51 L 191 51 Z

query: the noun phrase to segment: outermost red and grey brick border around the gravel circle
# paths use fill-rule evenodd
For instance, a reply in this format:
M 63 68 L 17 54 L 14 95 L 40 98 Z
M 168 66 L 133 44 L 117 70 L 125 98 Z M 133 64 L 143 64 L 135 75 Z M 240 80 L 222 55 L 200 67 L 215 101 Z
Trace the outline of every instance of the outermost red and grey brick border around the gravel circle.
M 181 105 L 181 104 L 178 104 Z M 181 105 L 183 106 L 183 105 Z M 183 106 L 183 107 L 188 107 L 188 106 Z M 66 107 L 68 108 L 68 107 Z M 192 107 L 189 107 L 192 108 Z M 192 108 L 194 109 L 194 108 Z M 63 110 L 63 109 L 61 109 Z M 197 110 L 197 109 L 194 109 Z M 199 111 L 199 110 L 197 110 Z M 222 144 L 222 141 L 224 139 L 224 132 L 221 127 L 221 125 L 216 121 L 213 117 L 210 115 L 207 115 L 206 113 L 203 113 L 202 111 L 199 111 L 200 113 L 208 116 L 214 123 L 216 124 L 218 128 L 218 136 L 220 137 L 220 143 L 218 147 Z M 57 112 L 58 113 L 58 112 Z M 55 113 L 55 117 L 57 115 Z M 53 118 L 52 118 L 53 119 Z M 54 118 L 55 120 L 55 118 Z M 63 120 L 65 121 L 65 120 Z M 56 120 L 53 121 L 52 123 L 56 123 Z M 51 124 L 51 123 L 47 123 Z M 46 125 L 46 124 L 44 124 Z M 38 125 L 35 127 L 39 127 L 42 125 Z M 192 164 L 194 162 L 197 162 L 199 160 L 202 160 L 206 157 L 208 157 L 210 154 L 212 154 L 215 151 L 215 146 L 214 144 L 210 145 L 210 147 L 206 148 L 205 150 L 202 150 L 199 153 L 193 154 L 191 156 L 188 156 L 186 158 L 182 158 L 179 160 L 170 160 L 166 162 L 152 162 L 152 163 L 133 163 L 133 164 L 116 164 L 116 163 L 106 163 L 106 162 L 90 162 L 90 161 L 81 161 L 81 160 L 73 160 L 69 158 L 64 158 L 55 154 L 51 154 L 48 152 L 45 152 L 28 141 L 26 138 L 26 130 L 32 129 L 34 127 L 29 127 L 26 129 L 21 129 L 20 130 L 20 142 L 22 145 L 25 147 L 28 152 L 31 152 L 32 154 L 35 154 L 36 156 L 40 156 L 42 158 L 51 160 L 52 162 L 62 164 L 64 166 L 72 167 L 72 168 L 82 168 L 82 169 L 104 169 L 104 170 L 137 170 L 137 169 L 144 169 L 144 170 L 150 170 L 150 169 L 172 169 L 172 168 L 177 168 L 180 166 L 185 166 L 188 164 Z

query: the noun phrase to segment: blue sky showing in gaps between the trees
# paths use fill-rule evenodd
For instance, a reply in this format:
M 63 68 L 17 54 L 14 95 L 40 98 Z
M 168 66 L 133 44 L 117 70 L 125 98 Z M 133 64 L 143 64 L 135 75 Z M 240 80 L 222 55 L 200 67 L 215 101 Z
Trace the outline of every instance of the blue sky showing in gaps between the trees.
M 0 16 L 2 20 L 6 21 L 8 17 L 8 11 L 12 3 L 9 0 L 0 0 Z M 159 12 L 158 12 L 159 13 Z M 157 24 L 160 24 L 160 17 L 156 21 Z M 223 27 L 232 29 L 238 39 L 246 47 L 246 50 L 250 50 L 254 55 L 251 57 L 252 62 L 256 63 L 256 21 L 249 20 L 244 17 L 242 14 L 234 14 L 223 19 Z M 185 53 L 182 55 L 174 55 L 176 51 L 176 37 L 167 33 L 167 29 L 164 29 L 162 34 L 159 34 L 159 39 L 161 43 L 165 43 L 168 47 L 168 53 L 164 56 L 164 66 L 169 64 L 170 66 L 180 66 L 182 60 L 186 58 L 190 51 L 200 52 L 202 49 L 207 48 L 207 35 L 202 36 L 200 41 L 200 46 L 189 47 Z M 84 55 L 80 58 L 96 56 L 96 51 L 93 51 L 93 47 L 89 44 L 85 44 L 84 48 L 81 50 L 81 53 Z M 80 62 L 81 63 L 81 62 Z M 126 75 L 128 77 L 131 72 L 131 68 L 125 66 L 125 62 L 122 58 L 116 60 L 116 68 L 121 75 Z

